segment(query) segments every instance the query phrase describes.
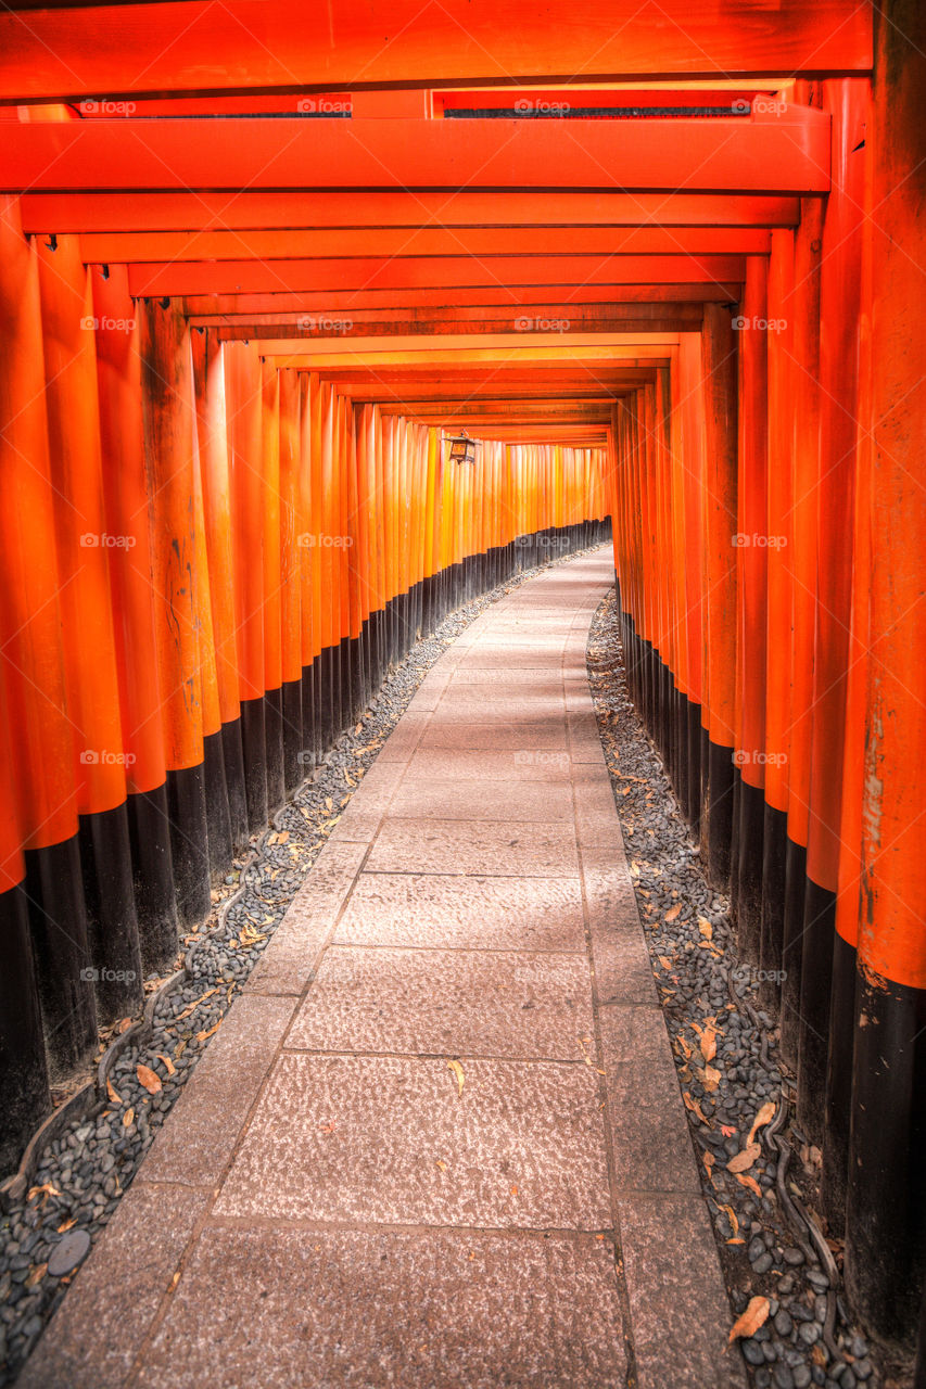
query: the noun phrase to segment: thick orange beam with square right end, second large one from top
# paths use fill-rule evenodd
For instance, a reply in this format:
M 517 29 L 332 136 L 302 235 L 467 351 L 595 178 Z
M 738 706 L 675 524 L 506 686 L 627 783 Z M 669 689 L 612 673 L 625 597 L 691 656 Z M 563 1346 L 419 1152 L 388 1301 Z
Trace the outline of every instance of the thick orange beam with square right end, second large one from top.
M 716 119 L 129 117 L 10 122 L 0 142 L 0 189 L 14 193 L 473 186 L 808 194 L 829 190 L 829 169 L 830 117 L 798 106 Z

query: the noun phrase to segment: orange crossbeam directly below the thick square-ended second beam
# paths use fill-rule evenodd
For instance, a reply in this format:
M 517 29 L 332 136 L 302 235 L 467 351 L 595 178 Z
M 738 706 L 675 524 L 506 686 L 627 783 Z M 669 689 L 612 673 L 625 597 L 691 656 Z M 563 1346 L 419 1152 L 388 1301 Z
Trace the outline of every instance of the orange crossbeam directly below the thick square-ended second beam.
M 26 193 L 35 232 L 218 232 L 249 228 L 797 226 L 794 197 L 716 193 Z M 115 260 L 117 257 L 113 257 Z M 159 258 L 159 257 L 156 257 Z

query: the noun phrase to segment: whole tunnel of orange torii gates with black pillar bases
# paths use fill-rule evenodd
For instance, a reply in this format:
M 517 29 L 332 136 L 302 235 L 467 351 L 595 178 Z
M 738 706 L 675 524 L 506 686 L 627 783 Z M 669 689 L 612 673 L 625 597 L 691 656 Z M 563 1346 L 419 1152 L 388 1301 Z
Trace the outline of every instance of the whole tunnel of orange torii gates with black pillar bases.
M 0 14 L 3 1171 L 389 661 L 610 518 L 633 697 L 908 1339 L 923 8 L 453 11 Z

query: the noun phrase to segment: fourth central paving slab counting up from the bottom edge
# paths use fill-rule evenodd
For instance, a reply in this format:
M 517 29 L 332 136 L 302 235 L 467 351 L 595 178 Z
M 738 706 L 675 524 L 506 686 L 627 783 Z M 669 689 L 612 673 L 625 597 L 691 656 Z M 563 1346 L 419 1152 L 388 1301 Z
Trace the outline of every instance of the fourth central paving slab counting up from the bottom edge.
M 362 874 L 338 922 L 342 945 L 584 951 L 577 878 Z

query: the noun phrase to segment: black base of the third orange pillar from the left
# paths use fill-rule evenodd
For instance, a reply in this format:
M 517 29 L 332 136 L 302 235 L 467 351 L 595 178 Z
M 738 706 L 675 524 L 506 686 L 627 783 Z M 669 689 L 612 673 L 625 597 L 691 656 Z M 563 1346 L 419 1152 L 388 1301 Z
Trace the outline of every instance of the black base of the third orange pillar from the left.
M 108 1026 L 132 1017 L 143 999 L 125 804 L 81 815 L 78 840 L 96 1011 L 100 1024 Z

